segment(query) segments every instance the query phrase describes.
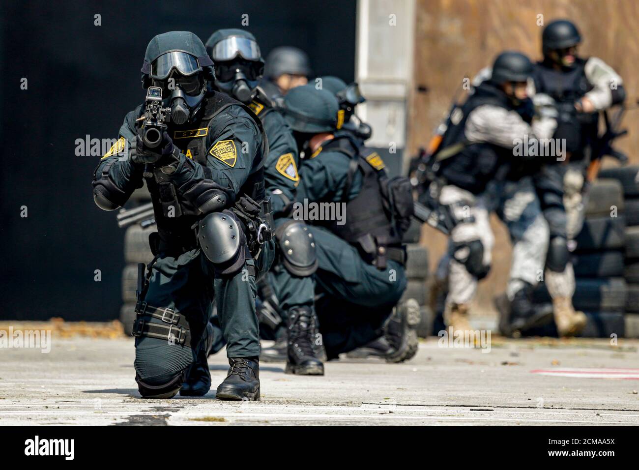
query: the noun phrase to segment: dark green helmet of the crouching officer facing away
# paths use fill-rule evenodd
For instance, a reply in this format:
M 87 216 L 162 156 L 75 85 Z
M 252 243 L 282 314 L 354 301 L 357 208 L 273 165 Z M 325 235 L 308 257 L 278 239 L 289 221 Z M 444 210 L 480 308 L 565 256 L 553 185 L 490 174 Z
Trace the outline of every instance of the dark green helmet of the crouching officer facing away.
M 284 119 L 291 129 L 305 134 L 332 132 L 337 127 L 339 103 L 328 90 L 297 86 L 284 97 Z

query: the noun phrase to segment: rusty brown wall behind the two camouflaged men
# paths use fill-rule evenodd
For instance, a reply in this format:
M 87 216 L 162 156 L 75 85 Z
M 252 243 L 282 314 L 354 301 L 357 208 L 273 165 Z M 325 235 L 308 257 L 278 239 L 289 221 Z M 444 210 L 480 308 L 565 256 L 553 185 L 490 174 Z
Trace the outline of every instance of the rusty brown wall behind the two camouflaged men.
M 472 78 L 505 49 L 541 58 L 539 17 L 544 24 L 566 18 L 577 24 L 581 56 L 597 56 L 622 76 L 627 104 L 639 97 L 639 1 L 636 0 L 418 0 L 415 28 L 415 75 L 408 119 L 408 150 L 425 145 L 449 109 L 465 77 Z M 460 97 L 463 95 L 460 95 Z M 618 141 L 630 161 L 639 163 L 639 110 L 629 111 Z M 608 164 L 611 164 L 610 162 Z M 493 270 L 480 286 L 476 312 L 493 312 L 492 298 L 503 292 L 510 267 L 510 243 L 493 218 L 496 246 Z M 427 240 L 427 242 L 426 242 Z M 445 237 L 424 228 L 422 243 L 431 250 L 433 267 Z

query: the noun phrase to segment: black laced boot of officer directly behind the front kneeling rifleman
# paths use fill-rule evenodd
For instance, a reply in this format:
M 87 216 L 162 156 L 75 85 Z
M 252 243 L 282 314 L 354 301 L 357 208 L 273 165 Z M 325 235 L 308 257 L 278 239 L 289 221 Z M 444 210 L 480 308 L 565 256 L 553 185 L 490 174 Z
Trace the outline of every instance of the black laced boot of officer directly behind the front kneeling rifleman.
M 324 375 L 324 364 L 314 348 L 317 318 L 311 307 L 295 307 L 288 311 L 288 350 L 286 373 Z

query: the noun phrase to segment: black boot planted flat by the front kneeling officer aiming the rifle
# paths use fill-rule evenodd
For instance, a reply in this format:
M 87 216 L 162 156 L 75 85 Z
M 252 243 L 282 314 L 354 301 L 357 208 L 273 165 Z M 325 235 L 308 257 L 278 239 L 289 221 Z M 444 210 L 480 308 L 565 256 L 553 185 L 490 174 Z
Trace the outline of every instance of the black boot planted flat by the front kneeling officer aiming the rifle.
M 218 400 L 259 401 L 259 358 L 229 357 L 229 373 L 215 393 Z

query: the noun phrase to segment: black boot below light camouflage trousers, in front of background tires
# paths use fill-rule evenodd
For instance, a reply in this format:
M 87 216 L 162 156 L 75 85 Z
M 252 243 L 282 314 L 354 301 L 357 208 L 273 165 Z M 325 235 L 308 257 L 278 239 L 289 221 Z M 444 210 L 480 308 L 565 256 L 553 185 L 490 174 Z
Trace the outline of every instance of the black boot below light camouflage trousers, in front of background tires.
M 495 298 L 495 307 L 499 312 L 499 331 L 509 338 L 521 338 L 529 329 L 549 324 L 553 320 L 550 306 L 535 305 L 532 302 L 534 287 L 525 282 L 512 301 L 506 294 Z

